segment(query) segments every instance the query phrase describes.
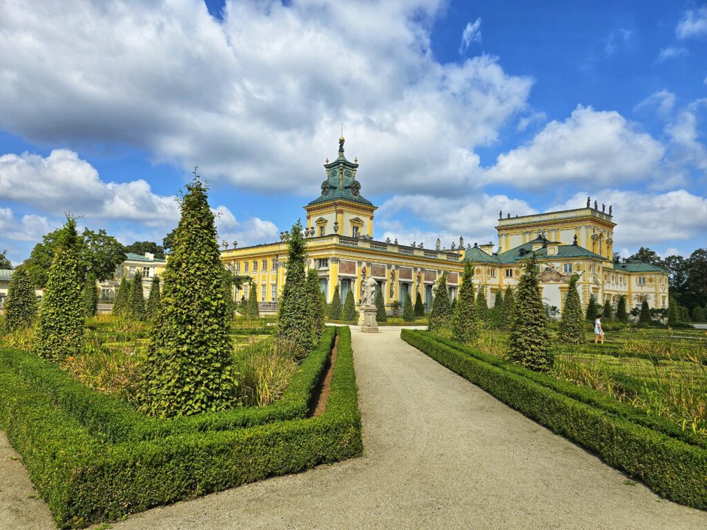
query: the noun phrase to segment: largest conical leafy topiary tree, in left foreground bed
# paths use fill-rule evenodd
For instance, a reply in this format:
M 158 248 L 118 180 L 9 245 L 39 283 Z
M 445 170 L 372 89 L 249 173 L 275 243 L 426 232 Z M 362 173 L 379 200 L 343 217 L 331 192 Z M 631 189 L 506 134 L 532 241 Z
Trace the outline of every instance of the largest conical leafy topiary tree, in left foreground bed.
M 141 410 L 152 416 L 222 411 L 237 399 L 221 253 L 198 176 L 187 184 L 180 208 L 162 276 L 162 308 L 136 393 Z

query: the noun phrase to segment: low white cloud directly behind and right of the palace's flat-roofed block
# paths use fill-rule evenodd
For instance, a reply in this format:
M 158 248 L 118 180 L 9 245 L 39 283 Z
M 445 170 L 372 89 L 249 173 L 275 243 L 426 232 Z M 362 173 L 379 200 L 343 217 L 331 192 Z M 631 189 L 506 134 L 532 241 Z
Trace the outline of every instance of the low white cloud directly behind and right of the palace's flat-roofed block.
M 547 211 L 583 206 L 587 193 L 579 192 Z M 662 194 L 602 189 L 595 192 L 600 203 L 613 206 L 614 242 L 617 247 L 636 249 L 664 242 L 691 240 L 707 226 L 707 199 L 678 189 Z

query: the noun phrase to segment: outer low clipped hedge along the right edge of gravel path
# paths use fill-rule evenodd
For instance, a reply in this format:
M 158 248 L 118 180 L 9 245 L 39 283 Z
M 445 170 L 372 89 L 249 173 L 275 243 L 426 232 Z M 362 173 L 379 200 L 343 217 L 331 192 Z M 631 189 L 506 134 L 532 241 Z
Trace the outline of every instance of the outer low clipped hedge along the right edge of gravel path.
M 703 447 L 573 399 L 509 370 L 503 361 L 489 363 L 421 331 L 404 329 L 401 336 L 508 406 L 597 453 L 607 464 L 640 478 L 660 495 L 707 509 L 707 451 Z

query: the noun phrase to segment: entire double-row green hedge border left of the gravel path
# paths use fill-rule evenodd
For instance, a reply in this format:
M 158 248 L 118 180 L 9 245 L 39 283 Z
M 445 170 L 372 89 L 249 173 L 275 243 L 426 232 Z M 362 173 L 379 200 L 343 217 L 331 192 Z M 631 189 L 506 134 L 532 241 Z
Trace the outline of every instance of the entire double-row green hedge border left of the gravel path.
M 325 411 L 310 404 L 338 336 Z M 281 399 L 151 418 L 54 363 L 0 350 L 0 427 L 60 528 L 118 519 L 363 451 L 351 335 L 327 328 Z

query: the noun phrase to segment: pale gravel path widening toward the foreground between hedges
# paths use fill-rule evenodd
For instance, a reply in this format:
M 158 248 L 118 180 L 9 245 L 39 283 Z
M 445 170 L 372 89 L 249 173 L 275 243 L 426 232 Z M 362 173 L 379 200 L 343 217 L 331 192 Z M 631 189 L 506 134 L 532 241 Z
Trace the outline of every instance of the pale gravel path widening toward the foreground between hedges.
M 364 457 L 156 508 L 111 528 L 707 529 L 706 512 L 627 481 L 399 333 L 352 329 Z M 2 437 L 0 521 L 8 499 L 6 444 Z M 36 505 L 23 500 L 27 524 L 13 512 L 7 527 L 52 528 Z

